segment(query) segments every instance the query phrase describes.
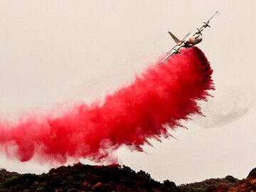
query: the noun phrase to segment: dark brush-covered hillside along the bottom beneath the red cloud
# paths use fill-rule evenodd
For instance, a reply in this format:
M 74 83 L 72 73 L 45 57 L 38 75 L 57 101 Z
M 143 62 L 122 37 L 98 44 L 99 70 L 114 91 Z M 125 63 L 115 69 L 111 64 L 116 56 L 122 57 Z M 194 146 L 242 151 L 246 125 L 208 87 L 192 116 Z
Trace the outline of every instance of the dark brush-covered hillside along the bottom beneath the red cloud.
M 128 166 L 90 166 L 74 164 L 50 169 L 48 174 L 17 174 L 0 169 L 0 191 L 256 191 L 256 169 L 246 179 L 233 176 L 176 186 L 169 180 L 160 183 L 144 171 Z

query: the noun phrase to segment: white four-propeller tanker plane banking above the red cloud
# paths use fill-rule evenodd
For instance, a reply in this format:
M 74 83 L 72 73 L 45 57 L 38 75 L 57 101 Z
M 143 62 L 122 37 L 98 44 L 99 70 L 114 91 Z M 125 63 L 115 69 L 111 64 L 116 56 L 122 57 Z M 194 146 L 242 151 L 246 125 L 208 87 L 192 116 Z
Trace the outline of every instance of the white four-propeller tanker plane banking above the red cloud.
M 215 14 L 217 14 L 218 11 L 216 11 Z M 215 16 L 215 14 L 213 14 L 213 16 Z M 189 36 L 191 33 L 188 33 L 188 35 L 186 35 L 182 40 L 179 40 L 178 38 L 176 38 L 176 36 L 174 36 L 173 33 L 171 33 L 169 31 L 170 36 L 174 39 L 176 46 L 174 46 L 173 48 L 171 48 L 171 50 L 166 53 L 167 56 L 166 58 L 164 58 L 163 60 L 161 60 L 161 63 L 164 63 L 165 60 L 167 60 L 169 57 L 171 57 L 171 55 L 177 55 L 178 53 L 181 54 L 181 52 L 179 52 L 180 48 L 191 48 L 193 46 L 195 46 L 196 44 L 200 43 L 202 41 L 202 31 L 207 28 L 210 27 L 208 24 L 210 23 L 210 19 L 213 18 L 213 16 L 211 16 L 208 21 L 203 22 L 203 26 L 201 26 L 201 28 L 197 28 L 197 31 L 195 33 L 193 33 L 191 36 Z

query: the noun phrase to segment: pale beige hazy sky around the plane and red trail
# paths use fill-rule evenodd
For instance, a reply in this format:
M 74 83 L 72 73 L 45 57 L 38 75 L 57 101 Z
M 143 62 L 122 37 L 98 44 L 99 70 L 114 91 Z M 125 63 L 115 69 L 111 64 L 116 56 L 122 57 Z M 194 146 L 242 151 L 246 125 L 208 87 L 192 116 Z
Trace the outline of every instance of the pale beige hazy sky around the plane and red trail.
M 206 117 L 145 153 L 122 147 L 117 156 L 158 181 L 245 178 L 256 167 L 255 7 L 253 0 L 0 0 L 1 119 L 102 99 L 174 46 L 168 31 L 183 38 L 219 11 L 198 45 L 214 70 L 214 97 L 201 102 Z M 19 173 L 51 167 L 4 154 L 0 164 Z

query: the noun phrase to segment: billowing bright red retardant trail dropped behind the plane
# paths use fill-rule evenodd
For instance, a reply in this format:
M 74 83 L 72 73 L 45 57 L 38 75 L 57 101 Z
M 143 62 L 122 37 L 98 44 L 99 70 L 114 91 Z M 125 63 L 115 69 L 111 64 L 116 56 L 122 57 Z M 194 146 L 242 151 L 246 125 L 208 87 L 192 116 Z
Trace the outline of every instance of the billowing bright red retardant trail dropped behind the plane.
M 122 144 L 142 151 L 148 139 L 168 137 L 189 114 L 201 114 L 197 100 L 213 89 L 212 70 L 199 48 L 183 50 L 151 65 L 134 82 L 104 102 L 80 104 L 60 117 L 30 117 L 0 125 L 0 144 L 20 161 L 65 163 L 68 157 L 104 161 Z M 41 120 L 38 120 L 41 119 Z

